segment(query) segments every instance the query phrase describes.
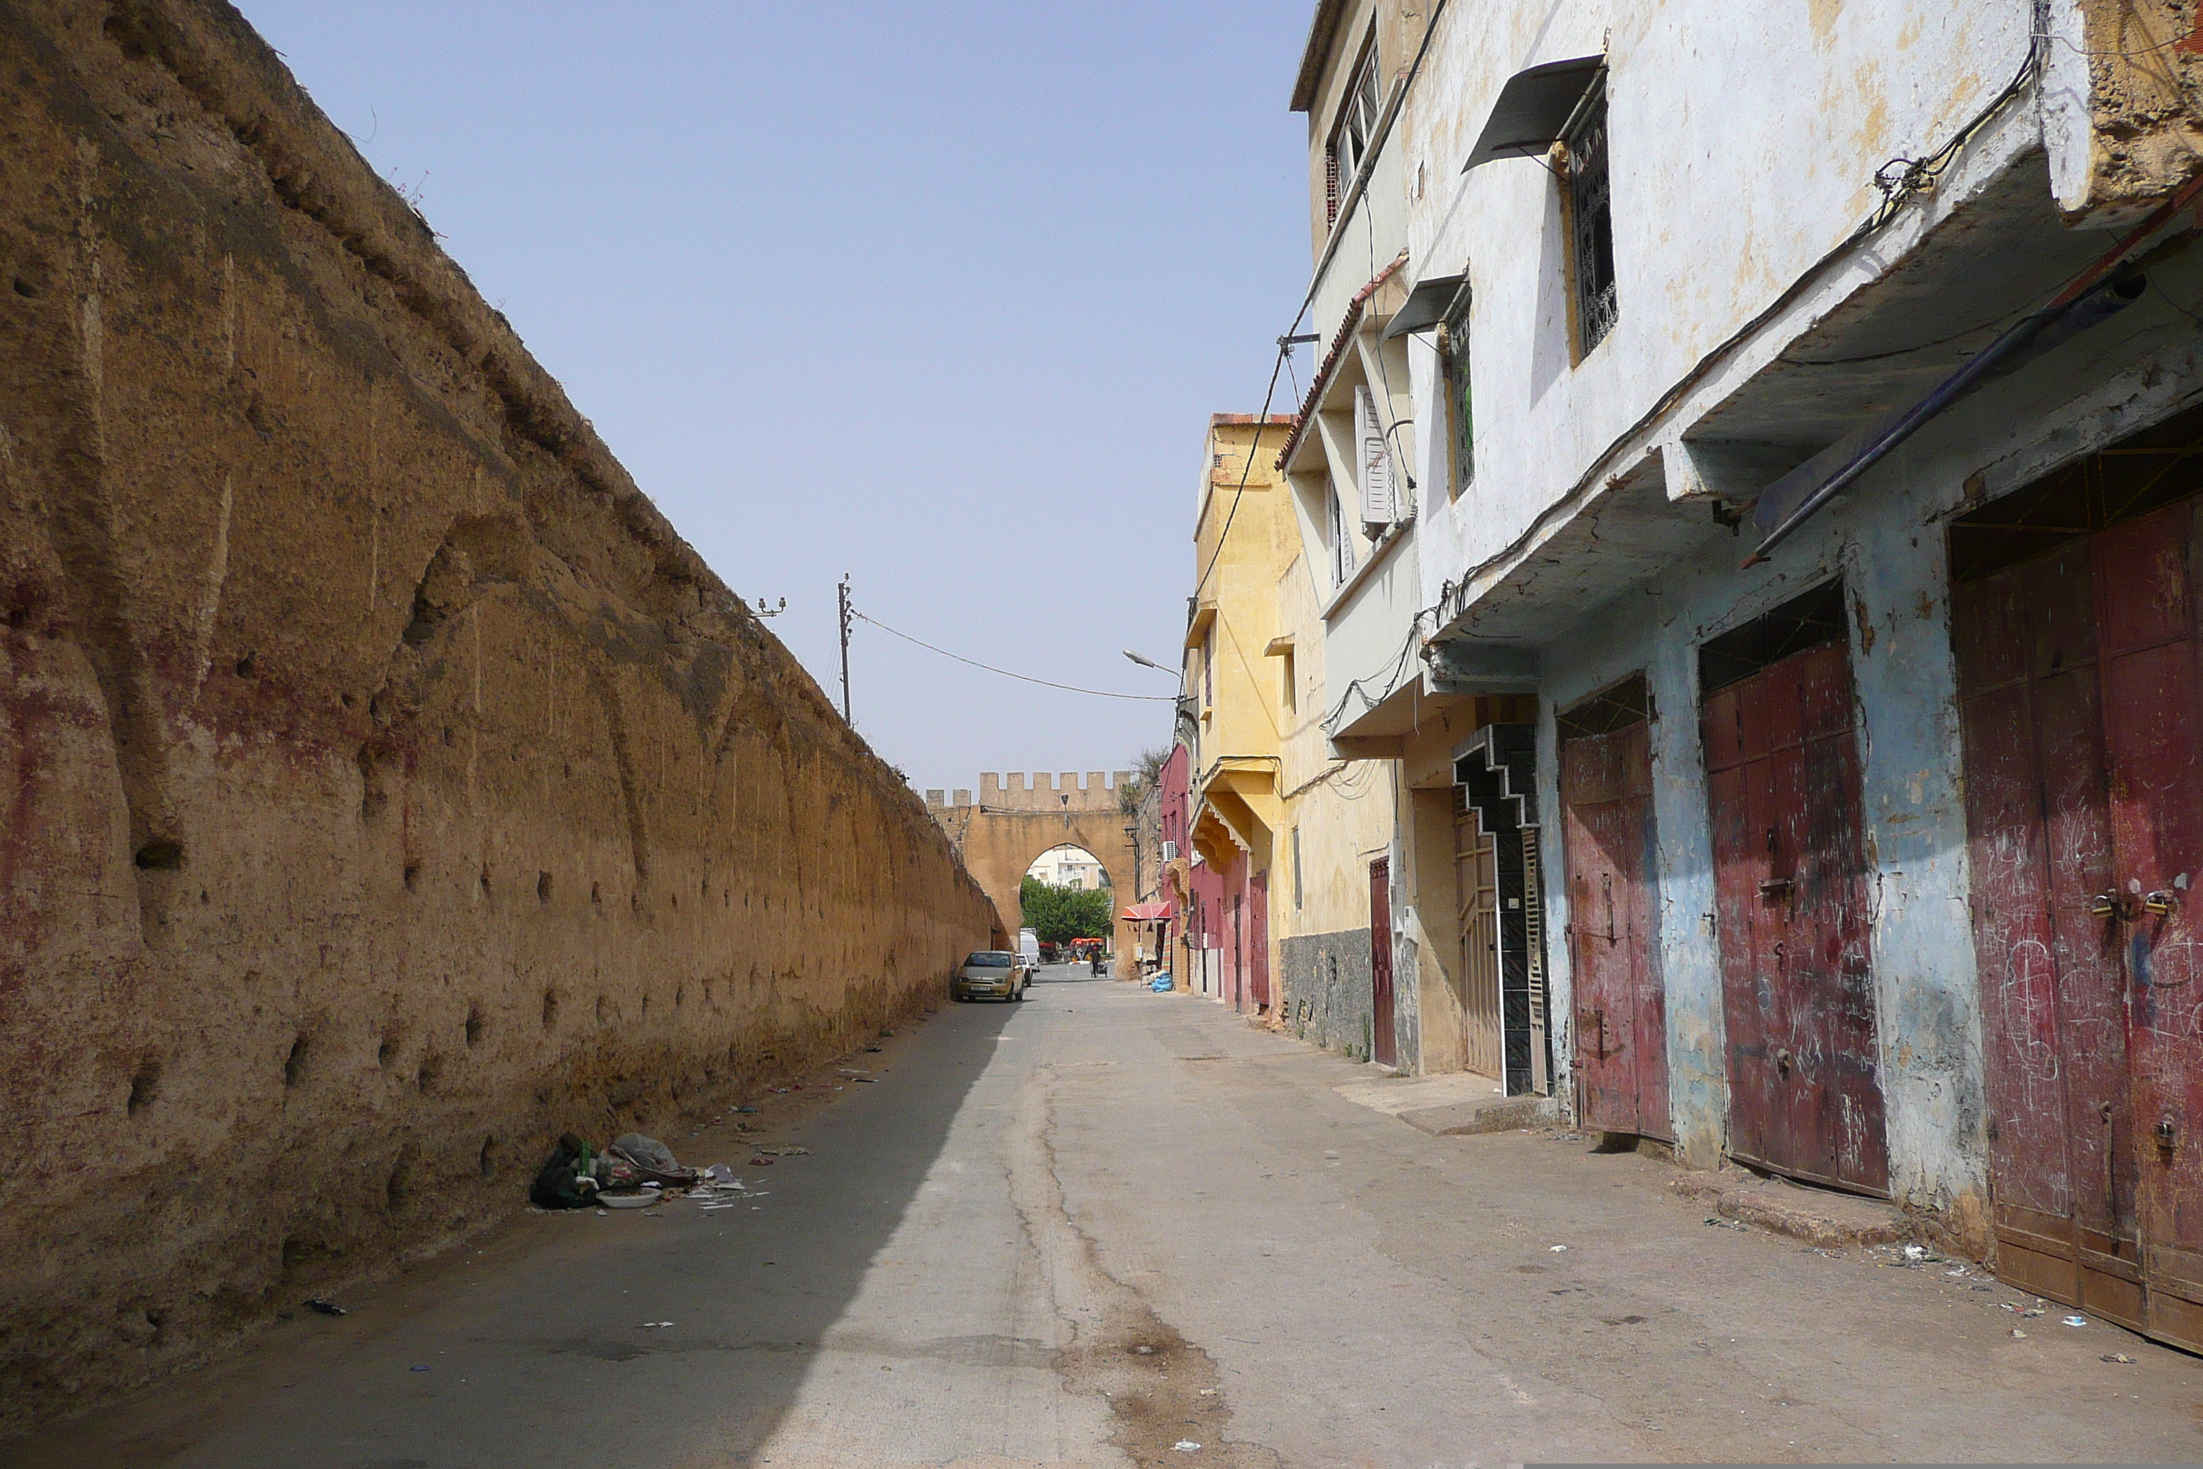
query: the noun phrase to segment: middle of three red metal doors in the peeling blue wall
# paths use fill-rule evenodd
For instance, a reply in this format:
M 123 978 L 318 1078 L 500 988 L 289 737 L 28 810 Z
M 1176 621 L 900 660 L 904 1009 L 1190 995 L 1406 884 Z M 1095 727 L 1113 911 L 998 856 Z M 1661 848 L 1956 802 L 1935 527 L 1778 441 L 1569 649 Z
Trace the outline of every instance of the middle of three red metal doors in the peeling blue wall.
M 1703 707 L 1729 1152 L 1888 1194 L 1848 654 L 1791 652 Z

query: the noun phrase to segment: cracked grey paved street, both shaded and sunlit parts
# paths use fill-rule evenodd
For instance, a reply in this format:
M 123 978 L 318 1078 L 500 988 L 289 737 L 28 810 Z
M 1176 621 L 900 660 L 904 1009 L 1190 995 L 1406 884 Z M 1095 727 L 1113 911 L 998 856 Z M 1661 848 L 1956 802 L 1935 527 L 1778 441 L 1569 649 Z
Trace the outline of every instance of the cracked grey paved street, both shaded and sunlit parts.
M 527 1214 L 13 1462 L 2203 1454 L 2190 1357 L 1707 1227 L 1652 1158 L 1425 1136 L 1333 1090 L 1370 1068 L 1198 998 L 1042 980 L 850 1057 L 875 1084 L 769 1097 L 809 1156 L 742 1167 L 742 1207 Z M 729 1123 L 670 1141 L 745 1165 Z

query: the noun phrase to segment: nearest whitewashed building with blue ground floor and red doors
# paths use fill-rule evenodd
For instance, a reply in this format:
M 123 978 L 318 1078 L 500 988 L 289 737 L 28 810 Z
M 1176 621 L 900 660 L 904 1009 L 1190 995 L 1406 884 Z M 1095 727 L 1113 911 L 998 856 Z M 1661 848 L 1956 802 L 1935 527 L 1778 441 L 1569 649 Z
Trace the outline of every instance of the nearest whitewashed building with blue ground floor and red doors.
M 2199 55 L 2150 0 L 1326 0 L 1284 451 L 1403 1068 L 2188 1346 Z

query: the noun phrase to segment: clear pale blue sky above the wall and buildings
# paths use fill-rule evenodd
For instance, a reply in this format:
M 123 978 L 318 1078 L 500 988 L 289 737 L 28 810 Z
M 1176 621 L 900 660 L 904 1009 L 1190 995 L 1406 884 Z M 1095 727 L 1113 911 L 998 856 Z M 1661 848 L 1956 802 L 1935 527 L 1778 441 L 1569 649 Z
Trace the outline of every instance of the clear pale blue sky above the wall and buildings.
M 1306 286 L 1309 0 L 242 9 L 828 692 L 842 573 L 1174 692 L 1119 648 L 1176 665 L 1207 414 L 1260 407 Z M 1170 731 L 864 623 L 853 683 L 921 788 Z

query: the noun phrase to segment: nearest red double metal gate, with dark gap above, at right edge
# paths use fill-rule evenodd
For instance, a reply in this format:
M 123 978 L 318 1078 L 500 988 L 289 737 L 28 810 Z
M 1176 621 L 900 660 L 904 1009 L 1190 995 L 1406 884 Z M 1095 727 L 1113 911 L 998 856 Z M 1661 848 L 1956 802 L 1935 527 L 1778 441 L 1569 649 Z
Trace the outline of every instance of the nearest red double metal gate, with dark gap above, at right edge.
M 2036 559 L 1965 577 L 1958 522 L 1952 636 L 1998 1275 L 2203 1350 L 2203 526 L 2135 515 L 2194 438 L 2000 507 L 2095 531 Z

